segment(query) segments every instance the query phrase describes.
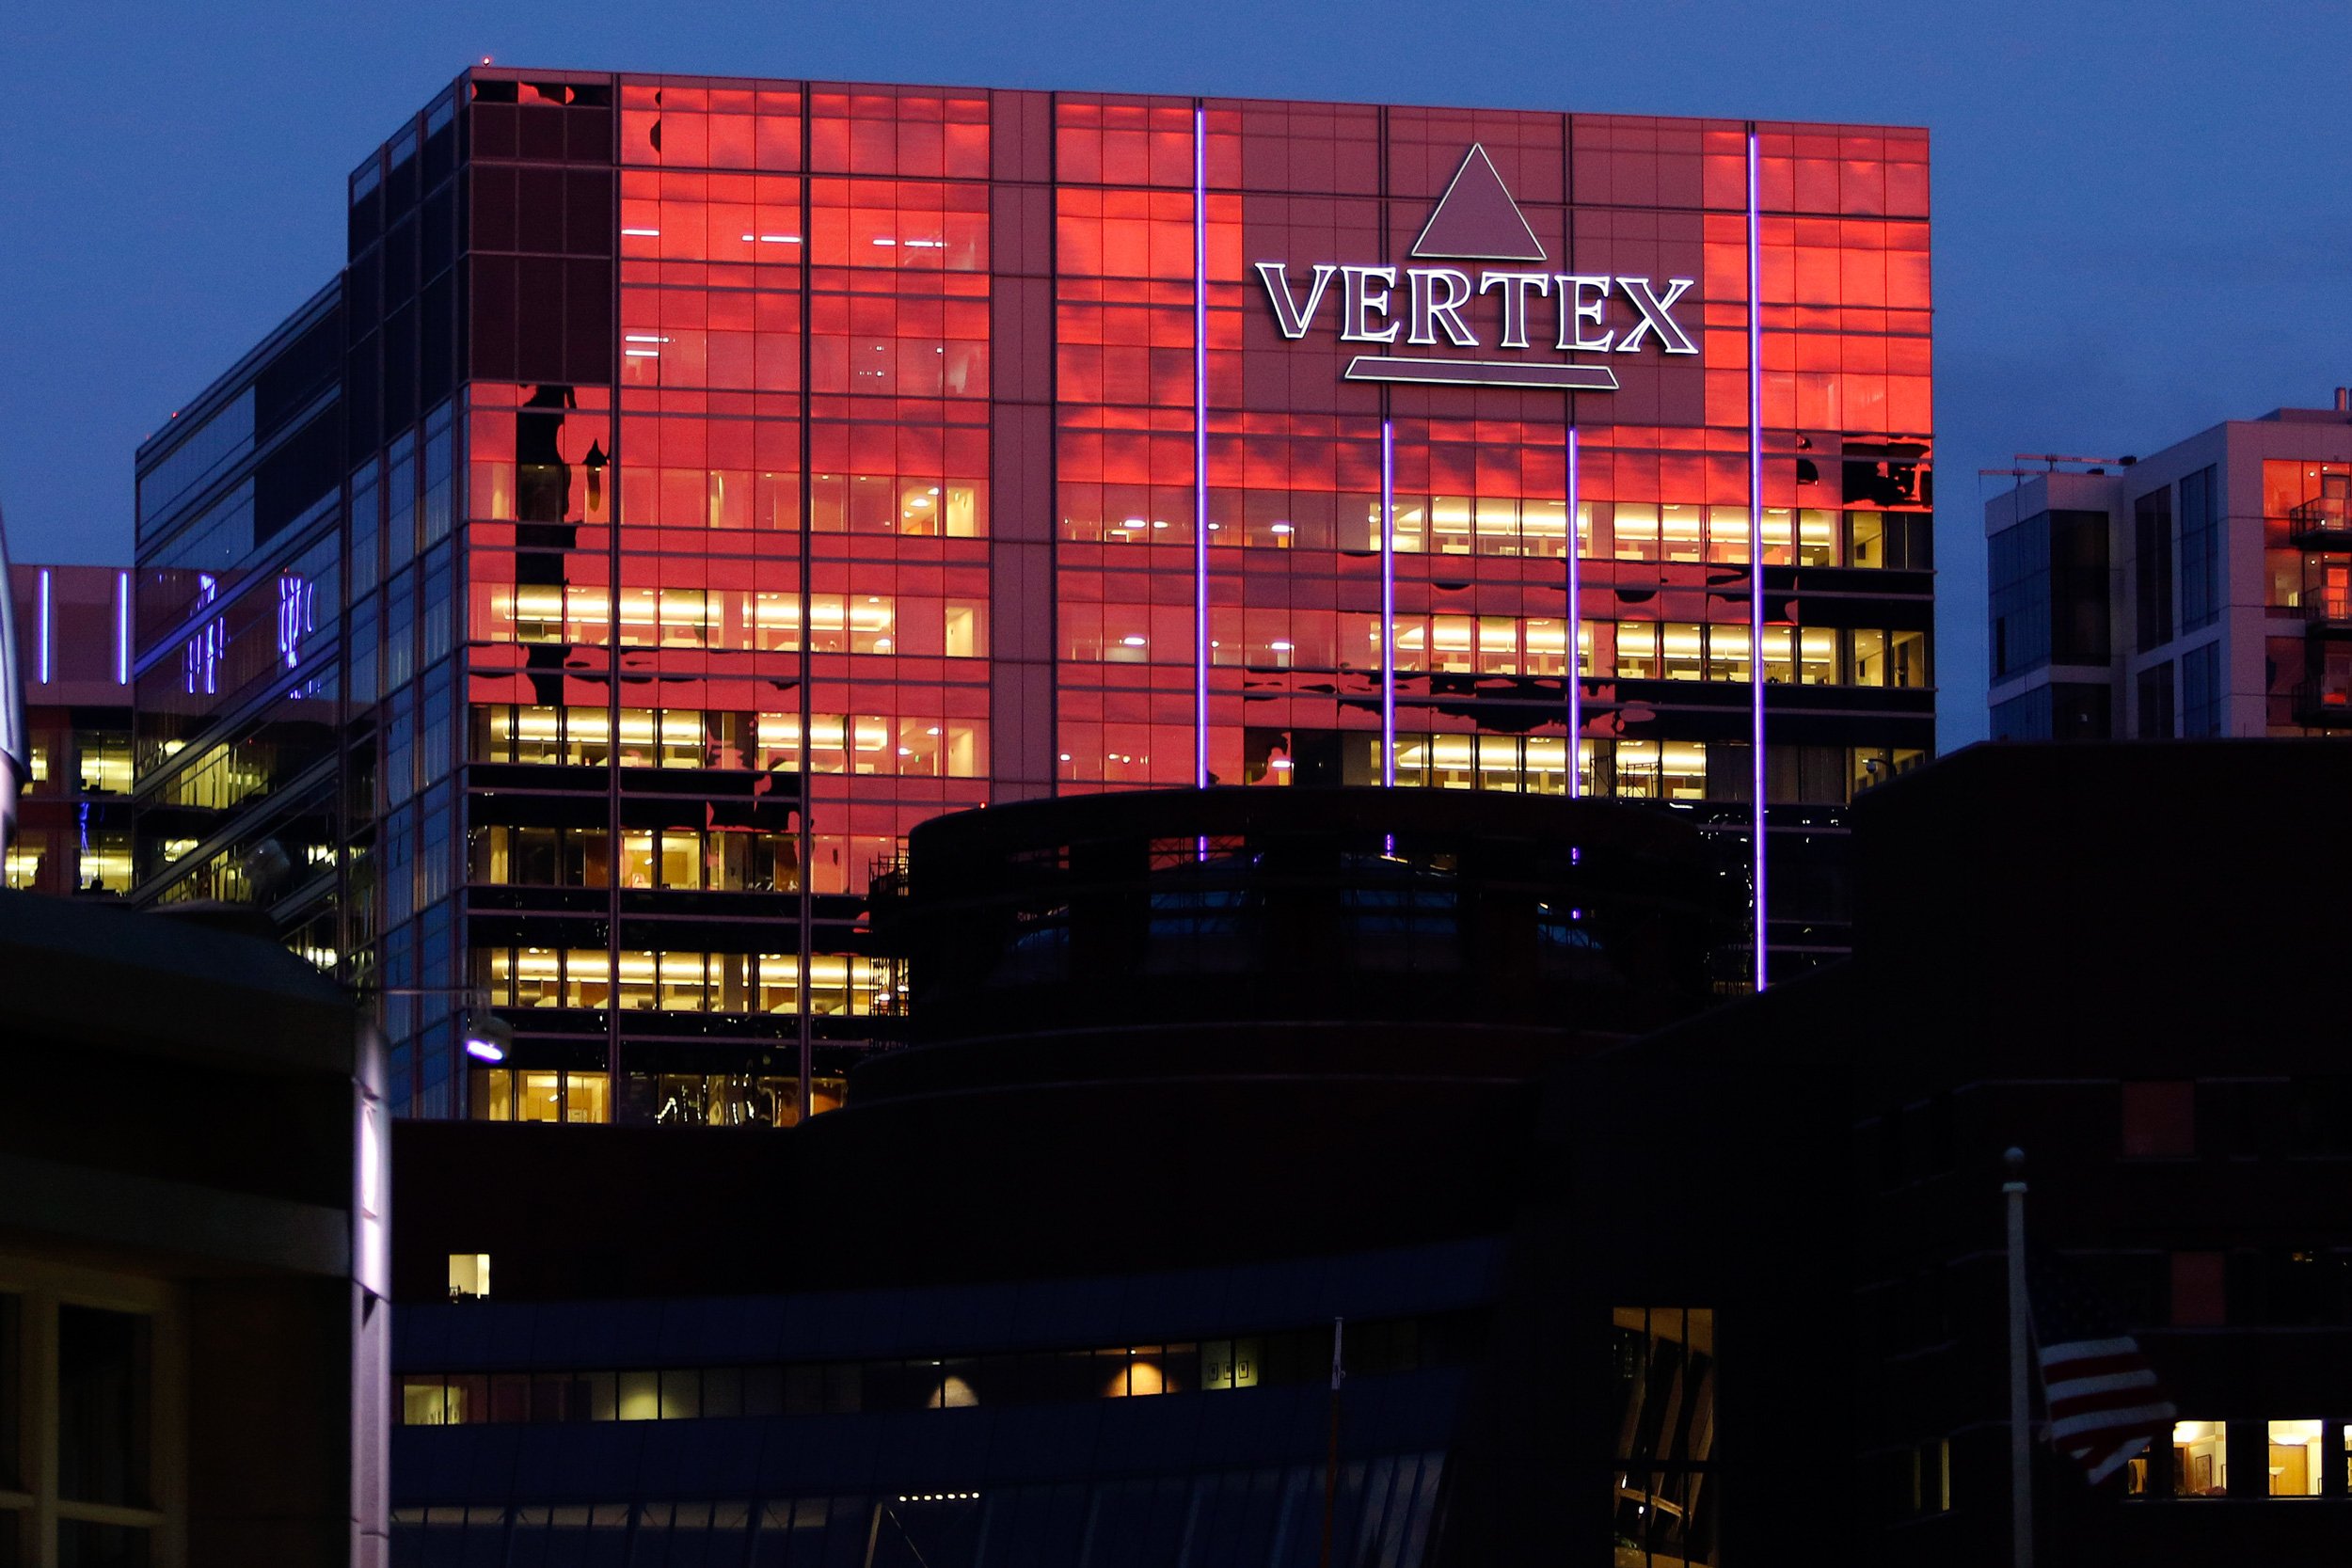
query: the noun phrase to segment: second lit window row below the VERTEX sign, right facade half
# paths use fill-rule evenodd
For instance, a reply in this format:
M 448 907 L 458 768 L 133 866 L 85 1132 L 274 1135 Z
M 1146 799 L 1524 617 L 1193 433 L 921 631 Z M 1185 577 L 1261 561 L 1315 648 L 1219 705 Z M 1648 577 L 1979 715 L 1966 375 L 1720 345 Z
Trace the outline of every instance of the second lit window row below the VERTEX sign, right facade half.
M 1063 658 L 1150 663 L 1190 658 L 1188 604 L 1063 604 Z M 1564 616 L 1395 618 L 1402 672 L 1566 675 Z M 1576 672 L 1616 679 L 1745 682 L 1748 625 L 1585 621 Z M 1357 611 L 1209 609 L 1209 663 L 1258 670 L 1378 670 L 1381 618 Z M 1802 686 L 1915 686 L 1929 677 L 1929 632 L 1764 628 L 1764 679 Z

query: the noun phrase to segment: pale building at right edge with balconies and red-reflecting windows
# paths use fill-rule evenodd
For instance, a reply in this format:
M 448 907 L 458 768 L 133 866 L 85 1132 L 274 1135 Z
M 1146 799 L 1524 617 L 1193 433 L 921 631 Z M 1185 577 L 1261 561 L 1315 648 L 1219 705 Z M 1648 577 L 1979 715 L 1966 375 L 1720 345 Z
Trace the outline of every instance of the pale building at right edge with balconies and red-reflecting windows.
M 2352 395 L 1985 503 L 1994 738 L 2352 729 Z

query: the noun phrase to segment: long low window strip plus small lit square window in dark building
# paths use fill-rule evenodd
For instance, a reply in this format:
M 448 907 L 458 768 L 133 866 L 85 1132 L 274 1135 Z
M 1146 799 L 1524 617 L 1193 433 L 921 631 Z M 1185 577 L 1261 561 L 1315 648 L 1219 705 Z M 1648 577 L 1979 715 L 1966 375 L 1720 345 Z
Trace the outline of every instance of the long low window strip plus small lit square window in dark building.
M 480 1255 L 454 1253 L 463 1279 Z M 473 1295 L 454 1286 L 459 1295 Z M 1477 1342 L 1470 1314 L 1348 1324 L 1350 1375 L 1454 1366 Z M 1317 1382 L 1331 1373 L 1331 1328 L 1232 1340 L 1115 1345 L 990 1356 L 917 1356 L 795 1366 L 682 1366 L 576 1373 L 405 1373 L 409 1427 L 477 1422 L 710 1420 L 849 1415 L 967 1406 L 1143 1399 Z

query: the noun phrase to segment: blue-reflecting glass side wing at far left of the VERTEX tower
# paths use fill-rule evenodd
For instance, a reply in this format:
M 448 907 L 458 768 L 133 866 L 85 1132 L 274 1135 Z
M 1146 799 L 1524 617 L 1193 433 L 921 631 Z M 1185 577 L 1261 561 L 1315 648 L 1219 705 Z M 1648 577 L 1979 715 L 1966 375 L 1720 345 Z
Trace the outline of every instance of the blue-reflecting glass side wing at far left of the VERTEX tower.
M 129 896 L 235 903 L 343 959 L 343 284 L 139 447 Z

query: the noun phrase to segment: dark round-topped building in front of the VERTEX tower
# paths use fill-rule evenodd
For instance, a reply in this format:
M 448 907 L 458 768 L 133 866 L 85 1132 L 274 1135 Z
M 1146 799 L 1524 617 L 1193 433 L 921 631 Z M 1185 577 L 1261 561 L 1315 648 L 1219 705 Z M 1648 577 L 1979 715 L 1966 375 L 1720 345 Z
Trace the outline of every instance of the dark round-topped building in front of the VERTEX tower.
M 1719 882 L 1606 802 L 917 827 L 840 1114 L 400 1128 L 405 1561 L 1310 1563 L 1341 1316 L 1336 1561 L 1432 1561 L 1531 1084 L 1708 1001 Z

